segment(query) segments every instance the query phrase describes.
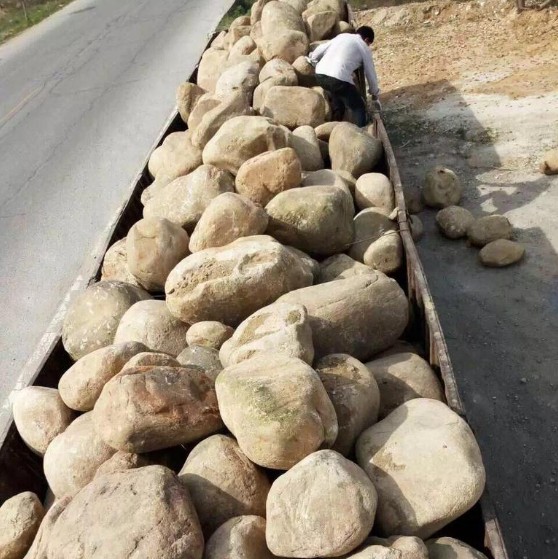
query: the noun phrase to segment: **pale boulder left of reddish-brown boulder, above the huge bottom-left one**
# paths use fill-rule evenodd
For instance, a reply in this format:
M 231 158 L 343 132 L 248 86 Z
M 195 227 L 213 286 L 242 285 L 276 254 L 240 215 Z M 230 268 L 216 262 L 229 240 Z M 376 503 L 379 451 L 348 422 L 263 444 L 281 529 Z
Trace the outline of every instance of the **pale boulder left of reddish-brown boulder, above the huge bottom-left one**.
M 79 491 L 115 452 L 95 431 L 93 413 L 80 415 L 45 452 L 43 468 L 50 489 L 57 498 Z

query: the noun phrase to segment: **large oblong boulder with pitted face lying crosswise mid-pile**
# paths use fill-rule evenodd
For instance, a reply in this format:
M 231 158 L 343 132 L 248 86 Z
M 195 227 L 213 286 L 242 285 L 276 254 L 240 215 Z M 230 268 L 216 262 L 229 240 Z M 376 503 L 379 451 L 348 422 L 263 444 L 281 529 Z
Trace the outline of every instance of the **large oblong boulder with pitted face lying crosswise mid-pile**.
M 235 326 L 312 281 L 300 257 L 259 235 L 188 256 L 170 273 L 165 291 L 169 310 L 184 322 L 219 320 Z

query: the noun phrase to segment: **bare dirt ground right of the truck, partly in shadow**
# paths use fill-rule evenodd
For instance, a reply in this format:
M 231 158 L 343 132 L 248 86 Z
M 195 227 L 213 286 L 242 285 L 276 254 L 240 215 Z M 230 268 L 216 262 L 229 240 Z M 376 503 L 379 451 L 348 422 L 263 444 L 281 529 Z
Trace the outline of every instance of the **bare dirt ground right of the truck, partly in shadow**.
M 558 557 L 558 10 L 511 0 L 370 0 L 386 126 L 404 185 L 454 169 L 462 205 L 501 213 L 525 260 L 483 268 L 478 251 L 420 214 L 419 251 L 447 337 L 510 558 Z

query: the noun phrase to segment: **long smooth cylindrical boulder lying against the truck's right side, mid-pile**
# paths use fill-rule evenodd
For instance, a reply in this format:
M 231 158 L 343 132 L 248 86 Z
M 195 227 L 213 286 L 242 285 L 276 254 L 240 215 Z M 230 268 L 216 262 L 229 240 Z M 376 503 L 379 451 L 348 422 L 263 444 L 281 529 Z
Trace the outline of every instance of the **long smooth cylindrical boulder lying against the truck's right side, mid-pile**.
M 298 289 L 278 299 L 308 310 L 316 357 L 347 353 L 366 361 L 403 333 L 409 312 L 405 293 L 395 280 L 376 274 Z

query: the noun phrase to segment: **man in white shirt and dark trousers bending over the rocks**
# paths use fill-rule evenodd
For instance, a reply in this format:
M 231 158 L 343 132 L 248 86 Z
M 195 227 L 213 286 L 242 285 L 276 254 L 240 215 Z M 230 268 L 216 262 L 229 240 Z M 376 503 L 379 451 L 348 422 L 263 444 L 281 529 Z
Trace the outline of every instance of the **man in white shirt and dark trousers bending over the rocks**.
M 366 105 L 353 82 L 353 73 L 364 66 L 368 91 L 380 109 L 378 78 L 368 48 L 374 42 L 374 30 L 366 25 L 356 33 L 342 33 L 331 41 L 323 43 L 308 56 L 309 62 L 316 67 L 318 85 L 330 93 L 333 111 L 336 103 L 343 103 L 345 110 L 353 114 L 355 124 L 366 125 Z

